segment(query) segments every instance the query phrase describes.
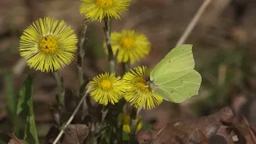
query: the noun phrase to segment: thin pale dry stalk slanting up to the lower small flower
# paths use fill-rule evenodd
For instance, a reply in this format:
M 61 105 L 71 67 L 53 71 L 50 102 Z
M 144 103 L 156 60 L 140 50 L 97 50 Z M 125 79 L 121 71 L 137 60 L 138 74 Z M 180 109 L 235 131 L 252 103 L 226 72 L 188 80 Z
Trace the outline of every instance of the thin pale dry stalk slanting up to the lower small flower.
M 73 114 L 70 116 L 70 119 L 66 122 L 66 125 L 62 128 L 62 131 L 58 134 L 58 137 L 54 140 L 53 144 L 56 144 L 58 142 L 58 140 L 62 137 L 62 134 L 64 134 L 64 130 L 70 124 L 70 122 L 72 122 L 75 114 L 78 113 L 78 110 L 79 110 L 80 106 L 82 105 L 82 102 L 84 102 L 83 100 L 86 98 L 86 95 L 89 93 L 89 90 L 90 90 L 90 86 L 87 87 L 86 93 L 82 96 L 80 102 L 78 103 L 78 106 L 75 108 Z

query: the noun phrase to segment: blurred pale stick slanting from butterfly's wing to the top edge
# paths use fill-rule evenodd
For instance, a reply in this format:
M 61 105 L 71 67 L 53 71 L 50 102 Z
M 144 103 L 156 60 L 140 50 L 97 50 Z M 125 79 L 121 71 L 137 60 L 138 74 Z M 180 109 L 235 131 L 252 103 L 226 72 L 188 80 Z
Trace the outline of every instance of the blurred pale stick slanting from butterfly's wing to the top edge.
M 176 46 L 182 45 L 186 41 L 186 38 L 190 35 L 191 31 L 194 29 L 194 26 L 198 23 L 199 18 L 202 16 L 206 7 L 210 4 L 211 0 L 205 0 L 202 3 L 197 13 L 194 15 L 194 18 L 191 20 L 190 24 L 186 27 L 185 32 L 182 34 L 182 37 L 179 38 Z

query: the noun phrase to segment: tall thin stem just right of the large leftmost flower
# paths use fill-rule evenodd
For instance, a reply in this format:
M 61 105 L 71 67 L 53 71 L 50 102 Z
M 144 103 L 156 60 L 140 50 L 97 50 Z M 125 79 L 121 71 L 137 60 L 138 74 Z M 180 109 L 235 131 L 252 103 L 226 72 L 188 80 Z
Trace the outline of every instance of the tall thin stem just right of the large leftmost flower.
M 82 97 L 85 90 L 85 81 L 83 77 L 83 58 L 86 53 L 86 50 L 84 48 L 86 41 L 88 38 L 86 38 L 86 30 L 88 28 L 89 21 L 88 19 L 84 19 L 82 22 L 82 34 L 81 34 L 81 40 L 79 42 L 79 48 L 78 48 L 78 79 L 79 79 L 79 97 Z

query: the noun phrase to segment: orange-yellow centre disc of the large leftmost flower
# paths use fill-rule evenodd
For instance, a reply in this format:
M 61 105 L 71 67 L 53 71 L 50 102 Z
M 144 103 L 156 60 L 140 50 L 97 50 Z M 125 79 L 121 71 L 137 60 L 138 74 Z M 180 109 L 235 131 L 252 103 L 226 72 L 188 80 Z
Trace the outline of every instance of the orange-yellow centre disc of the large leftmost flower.
M 39 41 L 39 49 L 42 50 L 42 52 L 47 54 L 54 54 L 57 50 L 57 41 L 52 36 L 48 35 L 46 37 L 43 37 Z

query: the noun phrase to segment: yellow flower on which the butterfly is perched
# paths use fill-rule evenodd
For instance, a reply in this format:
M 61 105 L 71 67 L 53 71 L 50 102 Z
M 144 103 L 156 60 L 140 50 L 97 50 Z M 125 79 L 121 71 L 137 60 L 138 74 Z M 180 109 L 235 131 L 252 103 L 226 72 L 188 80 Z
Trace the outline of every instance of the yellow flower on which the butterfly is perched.
M 126 90 L 123 96 L 136 108 L 142 106 L 143 109 L 151 109 L 162 102 L 162 98 L 158 94 L 154 94 L 148 86 L 150 71 L 146 66 L 138 66 L 127 72 L 122 78 Z

